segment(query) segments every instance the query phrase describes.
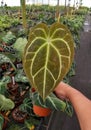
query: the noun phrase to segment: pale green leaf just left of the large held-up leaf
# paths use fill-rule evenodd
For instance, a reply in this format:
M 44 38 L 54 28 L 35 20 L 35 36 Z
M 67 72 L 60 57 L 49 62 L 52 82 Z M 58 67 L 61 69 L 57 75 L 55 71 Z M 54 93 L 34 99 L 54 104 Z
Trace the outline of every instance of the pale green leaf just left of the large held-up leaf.
M 23 52 L 26 44 L 27 44 L 26 38 L 18 38 L 16 42 L 13 44 L 14 49 L 16 49 L 19 52 L 21 58 L 23 56 Z

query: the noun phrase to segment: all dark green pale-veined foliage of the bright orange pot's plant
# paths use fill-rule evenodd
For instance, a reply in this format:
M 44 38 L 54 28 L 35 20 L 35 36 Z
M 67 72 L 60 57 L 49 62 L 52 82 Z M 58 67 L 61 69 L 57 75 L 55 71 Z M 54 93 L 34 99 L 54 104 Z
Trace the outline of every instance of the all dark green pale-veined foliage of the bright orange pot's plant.
M 60 100 L 53 93 L 47 96 L 46 100 L 43 101 L 40 95 L 37 92 L 35 92 L 32 94 L 32 100 L 33 104 L 36 104 L 38 106 L 48 107 L 51 110 L 63 111 L 67 113 L 69 116 L 72 116 L 73 114 L 73 108 L 71 104 L 66 101 Z

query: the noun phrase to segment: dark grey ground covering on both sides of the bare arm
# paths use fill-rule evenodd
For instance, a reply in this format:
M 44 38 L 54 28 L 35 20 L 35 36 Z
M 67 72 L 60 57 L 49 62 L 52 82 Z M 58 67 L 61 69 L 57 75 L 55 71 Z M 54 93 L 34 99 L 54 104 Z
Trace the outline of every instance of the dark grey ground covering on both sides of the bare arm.
M 91 16 L 86 17 L 84 31 L 80 35 L 80 48 L 76 50 L 76 75 L 71 78 L 71 85 L 91 99 Z M 80 99 L 79 99 L 80 100 Z M 44 119 L 41 130 L 81 130 L 75 111 L 72 117 L 65 113 L 54 112 Z

